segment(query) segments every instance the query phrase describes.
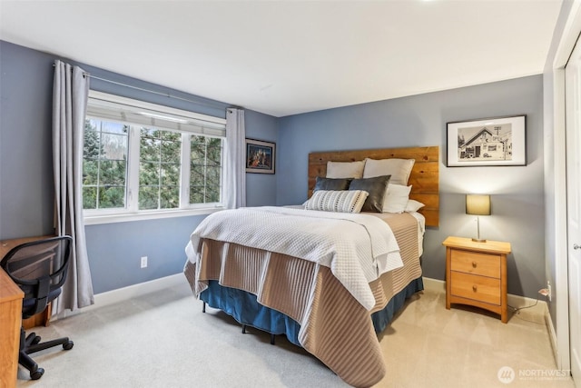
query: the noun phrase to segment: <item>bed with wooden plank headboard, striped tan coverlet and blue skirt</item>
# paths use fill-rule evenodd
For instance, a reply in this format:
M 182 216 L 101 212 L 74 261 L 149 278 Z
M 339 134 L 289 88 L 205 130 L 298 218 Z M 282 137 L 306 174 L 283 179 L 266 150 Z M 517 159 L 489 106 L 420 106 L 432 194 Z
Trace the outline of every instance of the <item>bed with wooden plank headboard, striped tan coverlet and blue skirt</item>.
M 386 375 L 387 366 L 377 334 L 409 296 L 423 289 L 419 261 L 423 231 L 426 226 L 438 226 L 438 156 L 437 146 L 310 154 L 310 200 L 304 205 L 222 211 L 216 217 L 212 214 L 218 220 L 204 220 L 196 228 L 186 247 L 188 260 L 184 266 L 192 292 L 243 325 L 285 334 L 291 343 L 319 358 L 350 385 L 378 383 Z M 367 161 L 365 164 L 371 165 L 369 160 L 386 159 L 413 160 L 401 185 L 411 186 L 409 200 L 424 204 L 421 208 L 403 213 L 364 210 L 339 214 L 320 212 L 313 204 L 321 195 L 340 194 L 341 200 L 345 195 L 357 195 L 327 190 L 325 184 L 338 184 L 335 181 L 342 178 L 336 176 L 350 174 L 345 167 L 349 170 L 351 164 Z M 356 178 L 350 184 L 373 179 Z M 398 185 L 389 184 L 392 188 Z M 391 231 L 387 237 L 383 234 L 385 225 Z M 326 231 L 327 226 L 338 230 L 333 244 L 321 239 L 320 234 L 309 237 L 312 241 L 301 240 L 307 238 L 305 230 Z M 376 229 L 381 229 L 381 234 L 374 232 Z M 364 238 L 359 234 L 366 233 L 372 239 L 367 244 L 371 246 L 369 252 L 356 244 Z M 376 237 L 379 240 L 373 240 Z M 391 245 L 393 239 L 397 249 Z M 354 247 L 349 245 L 350 240 L 355 241 Z M 335 244 L 340 247 L 335 248 Z M 294 248 L 285 251 L 289 246 Z M 340 253 L 359 256 L 356 262 L 369 262 L 369 268 L 359 271 L 354 264 L 344 264 L 347 259 Z

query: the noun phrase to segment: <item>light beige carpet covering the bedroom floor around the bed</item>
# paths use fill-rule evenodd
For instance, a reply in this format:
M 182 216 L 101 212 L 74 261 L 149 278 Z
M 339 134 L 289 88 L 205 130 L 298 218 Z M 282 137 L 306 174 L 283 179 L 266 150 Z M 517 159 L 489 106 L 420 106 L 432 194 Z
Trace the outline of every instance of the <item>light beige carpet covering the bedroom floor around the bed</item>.
M 44 339 L 69 336 L 74 348 L 36 353 L 44 376 L 35 387 L 345 387 L 339 377 L 284 336 L 241 325 L 207 309 L 188 284 L 104 306 L 49 327 Z M 377 387 L 574 387 L 555 377 L 542 317 L 522 311 L 507 324 L 487 313 L 446 310 L 445 294 L 418 293 L 380 335 L 388 374 Z M 511 383 L 497 377 L 502 367 Z

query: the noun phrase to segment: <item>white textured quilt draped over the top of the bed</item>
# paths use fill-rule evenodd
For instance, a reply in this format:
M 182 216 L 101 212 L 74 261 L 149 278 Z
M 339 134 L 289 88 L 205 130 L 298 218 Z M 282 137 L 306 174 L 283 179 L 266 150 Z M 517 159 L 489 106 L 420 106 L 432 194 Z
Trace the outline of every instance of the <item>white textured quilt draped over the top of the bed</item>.
M 325 265 L 370 310 L 375 298 L 369 282 L 403 265 L 389 225 L 366 214 L 319 212 L 262 206 L 210 214 L 192 233 L 186 254 L 200 258 L 200 240 L 208 238 Z

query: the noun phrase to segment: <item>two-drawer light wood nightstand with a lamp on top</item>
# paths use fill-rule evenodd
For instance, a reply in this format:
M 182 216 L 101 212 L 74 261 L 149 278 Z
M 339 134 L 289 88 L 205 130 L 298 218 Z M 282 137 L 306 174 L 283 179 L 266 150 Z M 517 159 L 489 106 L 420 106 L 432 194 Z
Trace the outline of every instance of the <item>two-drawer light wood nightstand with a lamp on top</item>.
M 468 304 L 500 314 L 507 323 L 507 254 L 510 243 L 477 243 L 448 237 L 446 246 L 446 308 Z

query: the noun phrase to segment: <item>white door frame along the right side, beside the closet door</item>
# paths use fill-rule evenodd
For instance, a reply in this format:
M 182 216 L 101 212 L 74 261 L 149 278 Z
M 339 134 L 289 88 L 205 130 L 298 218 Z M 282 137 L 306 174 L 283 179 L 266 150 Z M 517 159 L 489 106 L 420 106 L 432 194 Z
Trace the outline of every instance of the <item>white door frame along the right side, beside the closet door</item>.
M 566 109 L 565 66 L 581 34 L 581 2 L 575 1 L 556 49 L 553 70 L 553 135 L 555 179 L 555 298 L 556 298 L 556 366 L 570 370 L 569 287 L 566 225 Z M 557 259 L 565 258 L 565 259 Z

